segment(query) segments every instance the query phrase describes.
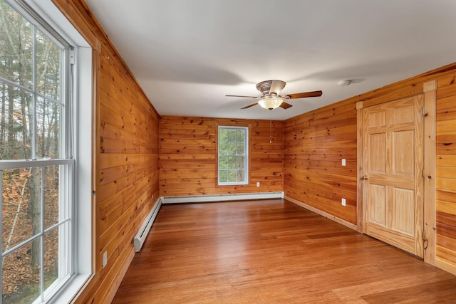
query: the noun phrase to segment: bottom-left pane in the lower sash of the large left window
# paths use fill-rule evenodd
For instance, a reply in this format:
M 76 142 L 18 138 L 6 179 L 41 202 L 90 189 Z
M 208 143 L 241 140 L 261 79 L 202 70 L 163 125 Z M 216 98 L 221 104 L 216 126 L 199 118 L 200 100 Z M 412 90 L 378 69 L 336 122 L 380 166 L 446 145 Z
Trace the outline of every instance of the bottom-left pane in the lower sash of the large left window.
M 39 262 L 33 265 L 34 250 L 37 249 L 28 243 L 4 258 L 1 297 L 3 303 L 33 303 L 40 295 L 40 266 Z M 39 248 L 37 251 L 36 254 L 39 255 Z

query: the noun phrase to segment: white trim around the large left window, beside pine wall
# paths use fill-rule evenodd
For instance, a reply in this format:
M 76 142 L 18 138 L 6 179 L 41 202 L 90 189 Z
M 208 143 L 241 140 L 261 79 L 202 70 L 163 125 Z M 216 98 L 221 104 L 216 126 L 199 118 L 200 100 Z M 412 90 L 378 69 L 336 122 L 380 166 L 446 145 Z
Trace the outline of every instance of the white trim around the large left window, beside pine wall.
M 76 185 L 73 208 L 73 276 L 48 299 L 48 303 L 71 303 L 93 277 L 92 203 L 92 48 L 51 0 L 25 0 L 46 22 L 75 48 L 73 130 L 75 136 Z M 38 299 L 36 303 L 39 303 Z

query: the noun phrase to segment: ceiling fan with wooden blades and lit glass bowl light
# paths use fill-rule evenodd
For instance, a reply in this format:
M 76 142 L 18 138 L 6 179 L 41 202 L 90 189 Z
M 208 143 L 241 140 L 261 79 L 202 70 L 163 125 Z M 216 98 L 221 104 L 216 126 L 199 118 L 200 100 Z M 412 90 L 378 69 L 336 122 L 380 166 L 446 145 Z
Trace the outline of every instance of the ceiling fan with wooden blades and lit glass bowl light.
M 262 108 L 267 110 L 274 110 L 275 108 L 288 109 L 293 105 L 286 103 L 285 100 L 296 99 L 296 98 L 308 98 L 318 97 L 323 94 L 320 91 L 305 92 L 305 93 L 294 93 L 287 95 L 279 95 L 280 91 L 285 88 L 286 82 L 281 80 L 265 80 L 261 83 L 257 83 L 257 90 L 261 93 L 261 96 L 244 96 L 244 95 L 225 95 L 227 97 L 244 97 L 258 99 L 257 103 L 247 105 L 242 109 L 253 107 L 254 105 L 261 105 Z

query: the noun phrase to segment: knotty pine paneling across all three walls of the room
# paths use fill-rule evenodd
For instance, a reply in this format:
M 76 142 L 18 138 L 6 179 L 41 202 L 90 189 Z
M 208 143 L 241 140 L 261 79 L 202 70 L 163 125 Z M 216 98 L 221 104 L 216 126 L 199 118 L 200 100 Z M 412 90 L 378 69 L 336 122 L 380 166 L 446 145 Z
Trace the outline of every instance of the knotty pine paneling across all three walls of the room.
M 343 100 L 285 122 L 162 117 L 83 1 L 53 0 L 90 43 L 95 59 L 95 276 L 78 303 L 107 303 L 133 257 L 131 239 L 160 196 L 284 191 L 287 196 L 356 224 L 358 101 L 394 100 L 437 80 L 437 260 L 456 269 L 456 64 Z M 337 100 L 334 100 L 335 102 Z M 217 187 L 219 124 L 251 124 L 251 179 Z M 160 163 L 159 155 L 160 139 Z M 283 140 L 283 142 L 282 142 Z M 346 167 L 341 166 L 345 158 Z M 282 166 L 283 162 L 283 166 Z M 160 164 L 160 186 L 158 181 Z M 283 180 L 282 180 L 283 179 Z M 256 187 L 261 182 L 261 187 Z M 154 199 L 152 199 L 154 196 Z M 347 206 L 341 206 L 341 197 Z M 108 251 L 108 265 L 101 267 Z

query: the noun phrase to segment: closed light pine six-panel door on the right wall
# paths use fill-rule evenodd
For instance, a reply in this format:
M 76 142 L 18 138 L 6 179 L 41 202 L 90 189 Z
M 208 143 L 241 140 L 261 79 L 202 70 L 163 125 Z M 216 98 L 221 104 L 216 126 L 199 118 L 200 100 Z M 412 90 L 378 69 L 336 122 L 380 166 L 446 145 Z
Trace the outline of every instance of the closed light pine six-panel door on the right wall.
M 423 95 L 363 109 L 363 230 L 423 257 Z

